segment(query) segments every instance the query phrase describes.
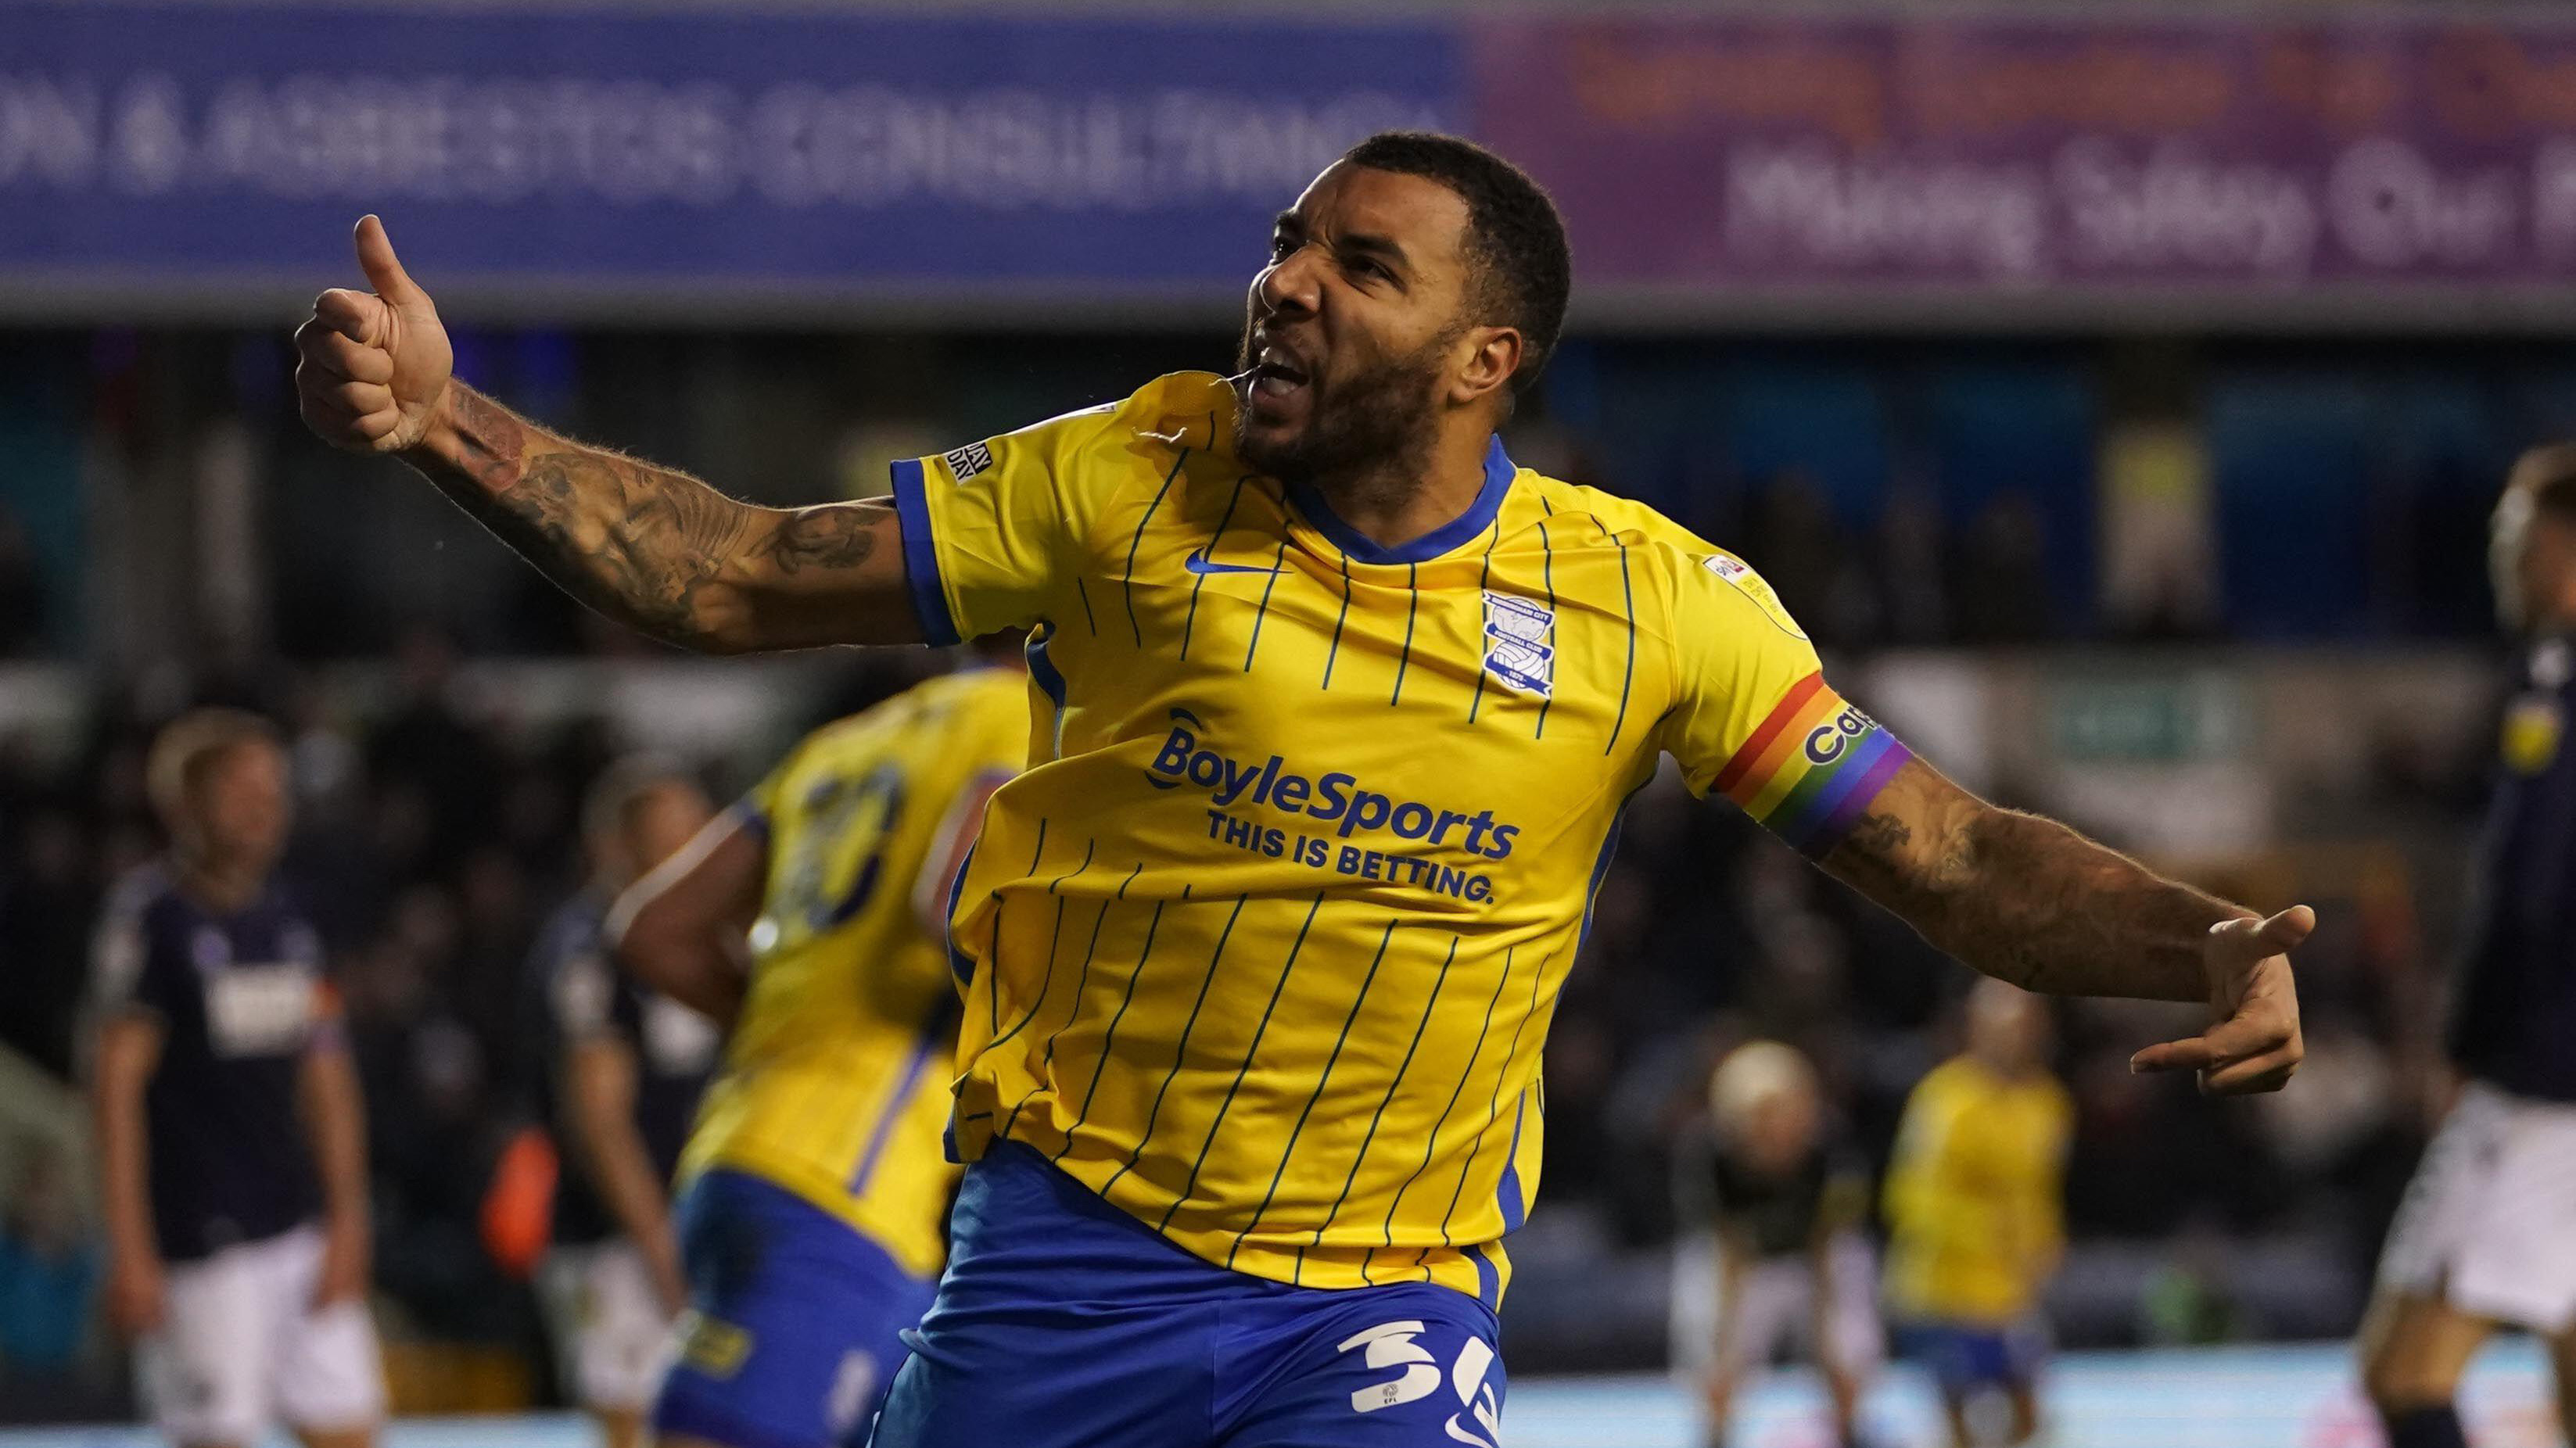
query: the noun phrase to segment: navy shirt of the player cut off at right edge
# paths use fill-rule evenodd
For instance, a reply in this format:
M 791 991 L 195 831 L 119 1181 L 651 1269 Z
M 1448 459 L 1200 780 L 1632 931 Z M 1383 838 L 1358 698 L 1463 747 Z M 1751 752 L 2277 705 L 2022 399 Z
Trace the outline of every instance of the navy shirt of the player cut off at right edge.
M 2450 1015 L 2452 1062 L 2576 1100 L 2576 642 L 2543 639 L 2504 711 L 2501 768 Z

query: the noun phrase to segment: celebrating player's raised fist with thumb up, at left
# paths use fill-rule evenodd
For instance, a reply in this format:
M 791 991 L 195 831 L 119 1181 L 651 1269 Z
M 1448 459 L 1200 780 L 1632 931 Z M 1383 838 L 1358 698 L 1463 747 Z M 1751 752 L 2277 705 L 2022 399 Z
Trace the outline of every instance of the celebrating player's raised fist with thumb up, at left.
M 376 216 L 358 219 L 358 268 L 374 291 L 330 289 L 296 327 L 304 425 L 350 453 L 420 443 L 448 392 L 456 353 L 430 294 L 402 271 Z

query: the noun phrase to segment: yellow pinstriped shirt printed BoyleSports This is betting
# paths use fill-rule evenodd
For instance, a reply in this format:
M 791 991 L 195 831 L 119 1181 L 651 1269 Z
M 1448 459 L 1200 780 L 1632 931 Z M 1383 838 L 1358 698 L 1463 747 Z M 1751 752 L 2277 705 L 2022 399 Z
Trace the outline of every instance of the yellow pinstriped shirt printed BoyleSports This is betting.
M 1770 587 L 1512 466 L 1381 549 L 1231 456 L 1231 386 L 896 464 L 933 642 L 1033 629 L 1030 768 L 958 891 L 956 1141 L 1190 1252 L 1497 1301 L 1540 1041 L 1662 752 L 1824 848 L 1904 750 Z

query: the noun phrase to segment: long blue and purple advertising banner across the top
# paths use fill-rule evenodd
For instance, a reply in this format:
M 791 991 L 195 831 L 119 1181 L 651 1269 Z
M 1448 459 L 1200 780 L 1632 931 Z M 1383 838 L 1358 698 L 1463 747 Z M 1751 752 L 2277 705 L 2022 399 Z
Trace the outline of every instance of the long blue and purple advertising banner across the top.
M 366 209 L 469 307 L 1208 314 L 1381 126 L 1530 165 L 1610 319 L 2576 312 L 2576 26 L 2501 13 L 5 13 L 15 314 L 268 307 Z

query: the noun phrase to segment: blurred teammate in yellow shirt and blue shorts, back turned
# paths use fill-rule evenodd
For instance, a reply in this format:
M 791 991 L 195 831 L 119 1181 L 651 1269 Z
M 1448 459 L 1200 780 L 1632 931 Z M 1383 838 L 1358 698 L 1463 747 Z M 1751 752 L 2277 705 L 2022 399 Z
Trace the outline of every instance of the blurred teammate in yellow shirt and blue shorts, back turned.
M 629 969 L 732 1023 L 680 1154 L 665 1448 L 850 1443 L 930 1306 L 956 1185 L 948 891 L 1028 757 L 1018 642 L 976 654 L 809 734 L 611 920 Z

